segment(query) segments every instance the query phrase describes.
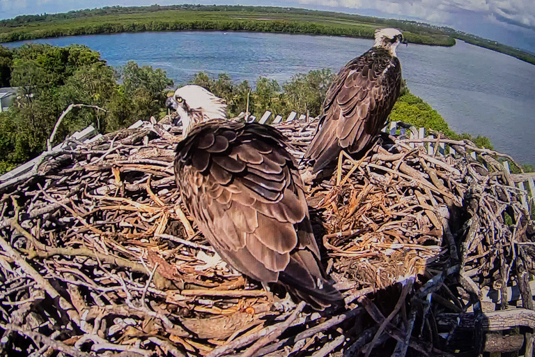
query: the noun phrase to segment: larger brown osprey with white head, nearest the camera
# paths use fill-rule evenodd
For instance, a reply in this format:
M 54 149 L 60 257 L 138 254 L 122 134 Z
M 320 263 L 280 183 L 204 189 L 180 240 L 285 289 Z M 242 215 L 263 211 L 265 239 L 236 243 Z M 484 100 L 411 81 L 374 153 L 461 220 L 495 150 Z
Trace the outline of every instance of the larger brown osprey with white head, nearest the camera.
M 339 303 L 320 265 L 286 137 L 270 126 L 227 121 L 224 101 L 200 86 L 177 89 L 166 104 L 183 123 L 176 184 L 222 259 L 263 284 L 282 284 L 317 310 Z

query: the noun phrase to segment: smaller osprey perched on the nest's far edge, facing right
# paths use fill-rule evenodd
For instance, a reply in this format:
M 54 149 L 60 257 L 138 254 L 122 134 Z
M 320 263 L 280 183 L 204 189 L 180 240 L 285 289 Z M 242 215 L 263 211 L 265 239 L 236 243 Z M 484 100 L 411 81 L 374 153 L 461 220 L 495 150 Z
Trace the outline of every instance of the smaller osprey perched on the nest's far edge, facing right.
M 385 125 L 401 89 L 399 43 L 405 43 L 399 30 L 378 29 L 373 47 L 340 70 L 327 91 L 318 131 L 304 155 L 315 160 L 313 173 L 344 149 L 351 154 L 368 149 Z

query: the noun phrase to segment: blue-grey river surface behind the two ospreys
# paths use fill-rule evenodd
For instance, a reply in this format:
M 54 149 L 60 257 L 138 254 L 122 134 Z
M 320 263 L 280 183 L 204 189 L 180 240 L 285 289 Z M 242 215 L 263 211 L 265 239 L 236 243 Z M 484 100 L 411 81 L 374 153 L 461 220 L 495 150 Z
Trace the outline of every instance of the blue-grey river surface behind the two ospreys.
M 26 41 L 28 42 L 28 41 Z M 29 41 L 100 52 L 110 66 L 136 61 L 162 68 L 175 84 L 201 70 L 254 83 L 279 84 L 297 73 L 330 68 L 337 73 L 368 50 L 371 40 L 247 32 L 145 32 Z M 9 43 L 8 47 L 22 43 Z M 535 66 L 461 41 L 453 47 L 401 45 L 398 57 L 412 93 L 436 109 L 458 133 L 484 135 L 495 149 L 535 164 Z

